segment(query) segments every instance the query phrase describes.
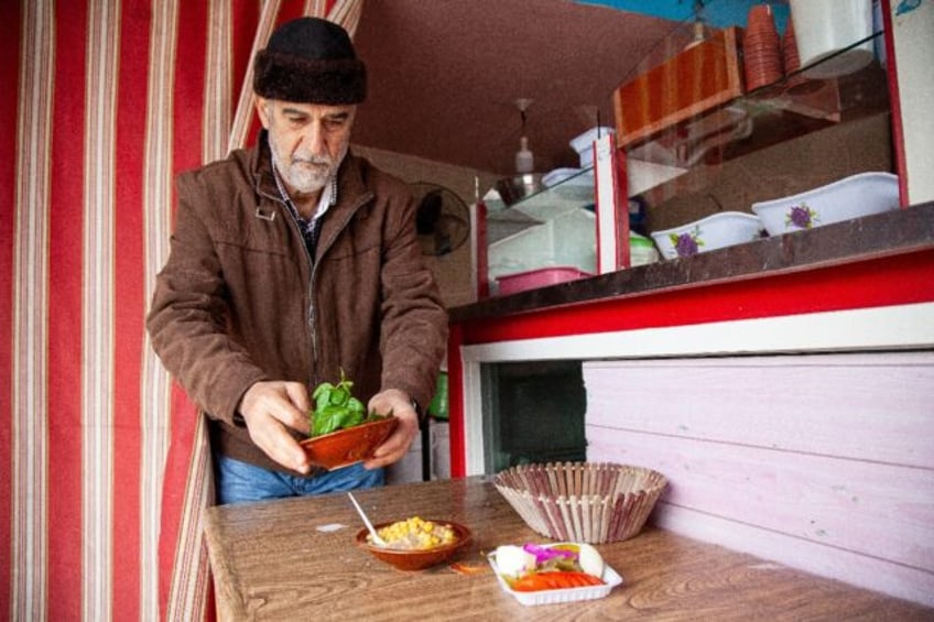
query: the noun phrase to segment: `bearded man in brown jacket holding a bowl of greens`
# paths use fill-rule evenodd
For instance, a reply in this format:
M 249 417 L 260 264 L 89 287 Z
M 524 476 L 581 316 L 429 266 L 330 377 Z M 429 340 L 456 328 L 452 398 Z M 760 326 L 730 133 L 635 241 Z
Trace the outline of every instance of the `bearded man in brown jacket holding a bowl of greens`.
M 281 25 L 256 59 L 257 144 L 177 179 L 153 348 L 209 417 L 220 503 L 383 482 L 432 397 L 447 315 L 406 186 L 349 153 L 366 68 L 338 25 Z M 297 439 L 309 390 L 341 371 L 397 430 L 323 471 Z

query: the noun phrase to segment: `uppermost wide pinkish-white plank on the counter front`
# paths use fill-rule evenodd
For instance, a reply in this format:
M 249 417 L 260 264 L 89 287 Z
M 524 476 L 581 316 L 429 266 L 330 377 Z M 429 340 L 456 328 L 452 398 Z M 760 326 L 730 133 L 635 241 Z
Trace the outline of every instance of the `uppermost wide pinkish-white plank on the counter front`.
M 587 423 L 934 468 L 934 352 L 584 363 Z

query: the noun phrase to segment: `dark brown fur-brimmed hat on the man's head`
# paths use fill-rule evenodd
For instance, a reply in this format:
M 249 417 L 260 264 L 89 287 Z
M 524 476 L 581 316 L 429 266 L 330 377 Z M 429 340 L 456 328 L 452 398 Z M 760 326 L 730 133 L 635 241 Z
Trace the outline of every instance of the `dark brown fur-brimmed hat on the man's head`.
M 367 98 L 367 68 L 343 28 L 298 18 L 279 26 L 257 54 L 253 90 L 282 101 L 359 103 Z

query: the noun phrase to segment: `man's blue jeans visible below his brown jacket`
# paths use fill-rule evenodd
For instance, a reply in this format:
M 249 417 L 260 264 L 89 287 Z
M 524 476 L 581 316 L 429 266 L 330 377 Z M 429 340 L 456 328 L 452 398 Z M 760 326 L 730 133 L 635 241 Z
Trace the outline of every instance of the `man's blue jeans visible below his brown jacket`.
M 221 505 L 374 488 L 385 480 L 383 469 L 368 471 L 360 462 L 307 478 L 270 471 L 218 455 L 214 457 L 214 465 L 217 502 Z

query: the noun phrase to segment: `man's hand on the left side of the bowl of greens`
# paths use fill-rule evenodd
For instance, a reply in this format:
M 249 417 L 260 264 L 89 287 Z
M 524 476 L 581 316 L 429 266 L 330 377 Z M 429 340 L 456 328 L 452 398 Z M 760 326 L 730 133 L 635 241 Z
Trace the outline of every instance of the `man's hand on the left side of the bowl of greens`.
M 300 382 L 257 382 L 240 401 L 240 414 L 257 447 L 301 473 L 307 473 L 311 465 L 286 427 L 308 434 L 309 410 L 308 390 Z

